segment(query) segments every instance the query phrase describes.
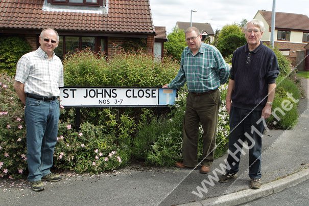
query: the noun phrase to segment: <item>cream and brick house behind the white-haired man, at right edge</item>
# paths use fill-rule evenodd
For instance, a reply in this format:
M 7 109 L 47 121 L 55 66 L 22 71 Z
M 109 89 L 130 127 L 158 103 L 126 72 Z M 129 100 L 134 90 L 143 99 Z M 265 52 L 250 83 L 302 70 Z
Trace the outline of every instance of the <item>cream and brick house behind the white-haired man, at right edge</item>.
M 262 41 L 270 44 L 272 12 L 259 10 L 254 18 L 262 20 L 265 31 Z M 309 42 L 309 18 L 303 14 L 276 12 L 274 45 L 281 53 L 296 66 L 306 52 L 305 46 Z M 299 65 L 304 69 L 304 63 Z M 309 68 L 308 68 L 309 70 Z

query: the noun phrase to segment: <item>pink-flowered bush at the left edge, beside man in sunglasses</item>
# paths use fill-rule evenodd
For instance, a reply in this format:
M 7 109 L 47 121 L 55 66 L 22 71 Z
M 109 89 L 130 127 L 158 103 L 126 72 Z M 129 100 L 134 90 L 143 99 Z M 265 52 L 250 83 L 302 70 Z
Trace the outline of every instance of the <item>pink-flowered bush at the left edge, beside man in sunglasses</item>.
M 0 177 L 18 178 L 27 170 L 25 110 L 13 81 L 0 74 Z

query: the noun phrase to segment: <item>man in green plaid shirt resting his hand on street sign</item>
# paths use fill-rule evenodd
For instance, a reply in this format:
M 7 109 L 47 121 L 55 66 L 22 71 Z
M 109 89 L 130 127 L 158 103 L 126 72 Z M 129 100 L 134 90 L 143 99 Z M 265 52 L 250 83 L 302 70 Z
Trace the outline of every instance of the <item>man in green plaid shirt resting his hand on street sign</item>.
M 179 88 L 187 83 L 185 117 L 183 121 L 182 158 L 178 168 L 197 168 L 199 123 L 203 128 L 203 155 L 200 172 L 210 171 L 216 146 L 216 130 L 220 105 L 221 84 L 226 83 L 229 66 L 218 49 L 202 42 L 202 35 L 195 27 L 185 31 L 187 47 L 181 55 L 177 76 L 163 88 Z

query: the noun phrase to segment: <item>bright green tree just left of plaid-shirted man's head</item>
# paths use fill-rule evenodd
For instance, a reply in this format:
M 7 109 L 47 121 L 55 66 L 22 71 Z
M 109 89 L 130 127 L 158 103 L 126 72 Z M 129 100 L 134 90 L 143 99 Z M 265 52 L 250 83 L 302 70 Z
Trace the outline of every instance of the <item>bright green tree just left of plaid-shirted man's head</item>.
M 181 59 L 181 53 L 186 46 L 184 31 L 176 28 L 168 35 L 168 41 L 164 43 L 167 54 L 177 60 Z

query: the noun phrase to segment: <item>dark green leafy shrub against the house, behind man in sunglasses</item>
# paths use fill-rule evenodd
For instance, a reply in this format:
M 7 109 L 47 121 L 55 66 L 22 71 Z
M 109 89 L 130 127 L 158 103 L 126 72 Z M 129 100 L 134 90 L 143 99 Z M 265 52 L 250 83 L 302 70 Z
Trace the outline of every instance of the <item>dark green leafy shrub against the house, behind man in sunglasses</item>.
M 1 37 L 0 38 L 0 73 L 14 76 L 18 59 L 31 52 L 32 48 L 28 41 L 21 37 Z

